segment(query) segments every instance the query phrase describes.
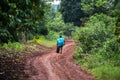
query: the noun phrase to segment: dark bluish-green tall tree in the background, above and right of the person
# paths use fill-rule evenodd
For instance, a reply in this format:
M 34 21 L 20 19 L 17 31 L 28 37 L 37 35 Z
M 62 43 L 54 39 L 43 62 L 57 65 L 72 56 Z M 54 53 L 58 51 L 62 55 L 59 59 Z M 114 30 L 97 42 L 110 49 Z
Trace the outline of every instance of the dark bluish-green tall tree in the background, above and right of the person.
M 74 23 L 74 25 L 81 25 L 80 18 L 83 17 L 81 10 L 81 0 L 62 0 L 60 12 L 65 23 Z

